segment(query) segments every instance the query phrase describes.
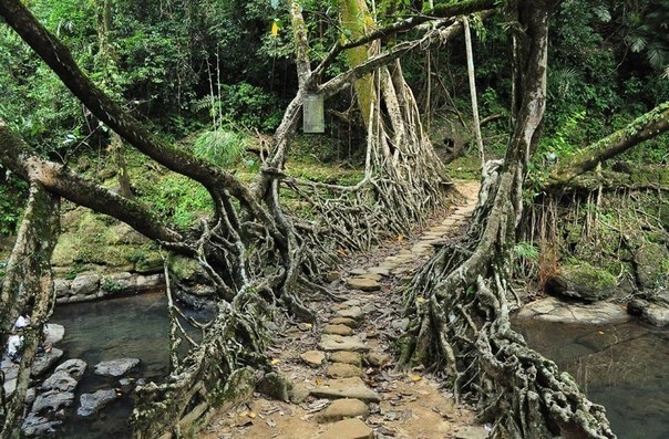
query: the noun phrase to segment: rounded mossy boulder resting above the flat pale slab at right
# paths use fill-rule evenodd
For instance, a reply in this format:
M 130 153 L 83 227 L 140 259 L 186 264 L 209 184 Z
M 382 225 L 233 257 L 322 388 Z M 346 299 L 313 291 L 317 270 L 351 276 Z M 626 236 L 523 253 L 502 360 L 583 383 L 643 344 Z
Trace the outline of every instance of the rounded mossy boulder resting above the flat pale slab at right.
M 560 272 L 550 279 L 546 288 L 549 293 L 596 302 L 610 297 L 616 292 L 616 276 L 587 262 L 560 266 Z

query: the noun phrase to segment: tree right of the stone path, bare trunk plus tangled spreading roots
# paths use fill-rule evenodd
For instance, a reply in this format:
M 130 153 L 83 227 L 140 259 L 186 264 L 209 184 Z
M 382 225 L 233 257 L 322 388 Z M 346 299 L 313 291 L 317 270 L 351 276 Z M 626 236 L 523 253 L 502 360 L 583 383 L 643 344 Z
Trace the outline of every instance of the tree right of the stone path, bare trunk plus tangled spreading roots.
M 528 348 L 510 323 L 508 254 L 522 213 L 525 165 L 545 108 L 548 17 L 555 3 L 519 1 L 512 11 L 518 23 L 514 130 L 506 156 L 486 169 L 464 241 L 444 245 L 406 294 L 412 326 L 402 362 L 443 367 L 459 397 L 477 396 L 480 417 L 492 422 L 496 438 L 615 437 L 604 408 Z

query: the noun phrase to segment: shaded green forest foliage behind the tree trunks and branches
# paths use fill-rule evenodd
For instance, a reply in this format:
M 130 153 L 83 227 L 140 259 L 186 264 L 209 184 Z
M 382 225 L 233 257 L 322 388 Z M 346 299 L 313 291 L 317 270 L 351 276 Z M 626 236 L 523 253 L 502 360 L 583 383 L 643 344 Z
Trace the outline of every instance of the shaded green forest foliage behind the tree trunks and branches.
M 105 92 L 155 132 L 217 164 L 257 167 L 261 147 L 298 87 L 288 17 L 272 2 L 31 1 L 30 8 Z M 327 1 L 303 2 L 312 59 L 340 32 Z M 400 13 L 415 12 L 412 6 Z M 325 12 L 323 12 L 325 11 Z M 669 6 L 650 1 L 564 1 L 552 20 L 547 117 L 537 157 L 557 159 L 622 127 L 669 98 Z M 511 56 L 501 15 L 473 23 L 478 107 L 486 151 L 502 154 L 510 127 Z M 322 53 L 318 53 L 321 51 Z M 342 55 L 329 74 L 346 69 Z M 74 98 L 8 27 L 0 28 L 0 117 L 41 154 L 75 166 L 81 157 L 125 166 L 110 130 Z M 475 153 L 464 38 L 402 60 L 435 147 Z M 666 136 L 627 153 L 669 163 Z M 356 168 L 364 128 L 351 94 L 329 100 L 326 134 L 303 136 L 294 154 Z M 132 153 L 131 153 L 132 154 Z M 85 160 L 84 160 L 85 161 Z M 536 169 L 543 163 L 536 163 Z M 457 169 L 453 169 L 457 175 Z M 322 178 L 322 177 L 321 177 Z M 27 185 L 0 168 L 0 233 L 14 231 Z M 177 220 L 207 197 L 177 201 L 178 181 L 133 190 Z M 197 191 L 197 188 L 191 188 Z M 186 202 L 186 205 L 182 205 Z M 200 203 L 202 206 L 198 206 Z M 164 206 L 162 206 L 164 205 Z M 171 205 L 171 206 L 168 206 Z M 172 212 L 173 213 L 173 212 Z

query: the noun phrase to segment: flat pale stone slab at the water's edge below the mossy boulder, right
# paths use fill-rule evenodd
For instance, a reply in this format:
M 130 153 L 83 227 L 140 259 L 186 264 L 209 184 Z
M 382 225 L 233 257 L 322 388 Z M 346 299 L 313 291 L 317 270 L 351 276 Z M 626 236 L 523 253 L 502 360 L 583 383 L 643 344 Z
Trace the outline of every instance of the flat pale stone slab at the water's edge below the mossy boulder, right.
M 565 303 L 555 297 L 528 303 L 521 309 L 517 317 L 593 325 L 627 322 L 630 318 L 625 309 L 615 303 Z

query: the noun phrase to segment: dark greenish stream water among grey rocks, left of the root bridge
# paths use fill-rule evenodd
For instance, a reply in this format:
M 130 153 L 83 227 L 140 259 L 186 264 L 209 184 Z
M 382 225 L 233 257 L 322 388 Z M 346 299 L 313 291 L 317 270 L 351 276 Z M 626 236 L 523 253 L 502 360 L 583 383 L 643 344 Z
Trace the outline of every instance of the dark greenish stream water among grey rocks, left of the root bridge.
M 93 374 L 95 364 L 121 357 L 140 358 L 138 370 L 132 378 L 161 380 L 168 373 L 169 343 L 167 300 L 162 293 L 142 294 L 101 302 L 56 306 L 51 322 L 65 326 L 65 337 L 58 346 L 64 358 L 81 358 L 89 365 L 76 388 L 75 404 L 82 393 L 119 387 L 119 380 Z M 210 317 L 192 313 L 197 320 Z M 68 420 L 62 438 L 127 438 L 127 419 L 133 401 L 122 396 L 106 406 L 99 416 Z M 76 411 L 76 407 L 72 411 Z

